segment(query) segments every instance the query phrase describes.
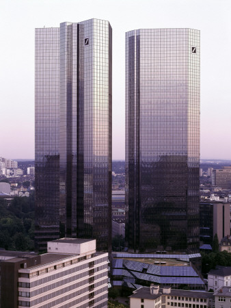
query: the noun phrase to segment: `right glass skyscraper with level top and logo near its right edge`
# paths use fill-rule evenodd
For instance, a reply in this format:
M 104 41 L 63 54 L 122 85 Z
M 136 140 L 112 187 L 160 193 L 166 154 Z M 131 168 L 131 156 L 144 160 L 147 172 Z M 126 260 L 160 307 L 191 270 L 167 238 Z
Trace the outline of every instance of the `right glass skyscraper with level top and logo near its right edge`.
M 200 31 L 126 33 L 126 240 L 199 248 Z

